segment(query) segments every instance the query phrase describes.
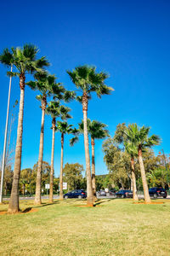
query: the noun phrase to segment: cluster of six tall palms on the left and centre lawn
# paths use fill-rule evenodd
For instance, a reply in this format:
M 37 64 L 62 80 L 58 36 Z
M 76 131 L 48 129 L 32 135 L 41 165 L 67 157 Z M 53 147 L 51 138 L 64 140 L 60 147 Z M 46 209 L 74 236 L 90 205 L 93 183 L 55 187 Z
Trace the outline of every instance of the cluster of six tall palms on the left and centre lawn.
M 87 65 L 76 67 L 73 71 L 67 71 L 71 81 L 77 86 L 78 90 L 82 91 L 81 96 L 77 96 L 75 91 L 65 90 L 63 84 L 56 83 L 56 77 L 48 73 L 45 69 L 49 66 L 49 62 L 45 56 L 41 58 L 37 57 L 38 49 L 31 44 L 25 44 L 22 48 L 4 49 L 0 55 L 0 62 L 7 67 L 13 66 L 16 72 L 8 72 L 10 76 L 18 76 L 20 78 L 20 110 L 18 119 L 17 141 L 15 148 L 14 159 L 14 178 L 12 184 L 12 190 L 9 200 L 8 212 L 19 212 L 19 182 L 20 182 L 20 166 L 21 166 L 21 154 L 22 154 L 22 134 L 23 134 L 23 116 L 24 116 L 24 96 L 25 86 L 28 85 L 32 90 L 38 90 L 40 95 L 37 96 L 37 100 L 41 102 L 42 108 L 42 122 L 40 132 L 40 145 L 37 167 L 37 183 L 36 183 L 36 196 L 35 204 L 41 204 L 41 181 L 42 181 L 42 158 L 43 158 L 43 139 L 44 139 L 44 120 L 45 113 L 51 115 L 52 118 L 52 153 L 51 153 L 51 172 L 50 172 L 50 193 L 49 201 L 53 201 L 53 178 L 54 178 L 54 133 L 59 131 L 61 134 L 61 161 L 60 161 L 60 178 L 59 178 L 59 198 L 63 199 L 63 149 L 64 149 L 64 136 L 65 134 L 73 134 L 77 136 L 77 129 L 68 125 L 66 119 L 71 118 L 71 109 L 61 105 L 61 102 L 70 102 L 73 99 L 82 103 L 83 112 L 83 134 L 84 134 L 84 146 L 85 146 L 85 158 L 86 158 L 86 173 L 87 173 L 87 192 L 88 192 L 88 206 L 94 206 L 95 196 L 95 168 L 94 168 L 94 139 L 103 138 L 107 135 L 106 131 L 100 131 L 98 129 L 105 127 L 105 125 L 98 122 L 92 122 L 91 126 L 88 125 L 88 101 L 91 99 L 92 92 L 95 92 L 99 98 L 102 95 L 111 94 L 112 88 L 105 84 L 105 79 L 108 78 L 108 74 L 104 72 L 97 73 L 96 67 L 88 67 Z M 26 83 L 27 74 L 33 75 L 34 80 Z M 48 98 L 53 97 L 51 102 L 48 102 Z M 56 118 L 60 117 L 63 121 L 56 122 Z M 91 128 L 90 128 L 91 127 Z M 93 128 L 94 127 L 94 128 Z M 90 130 L 91 129 L 91 130 Z M 94 130 L 93 130 L 94 129 Z M 93 146 L 93 160 L 92 160 L 92 172 L 90 166 L 89 148 L 88 148 L 88 132 L 91 135 Z M 103 132 L 103 133 L 102 133 Z

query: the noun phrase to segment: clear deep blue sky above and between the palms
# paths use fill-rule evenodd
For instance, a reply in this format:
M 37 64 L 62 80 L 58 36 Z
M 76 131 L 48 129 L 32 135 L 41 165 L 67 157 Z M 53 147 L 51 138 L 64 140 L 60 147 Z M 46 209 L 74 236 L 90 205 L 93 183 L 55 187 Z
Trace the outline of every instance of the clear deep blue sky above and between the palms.
M 0 50 L 25 43 L 36 44 L 40 55 L 52 63 L 49 72 L 56 74 L 69 90 L 74 90 L 66 69 L 82 64 L 95 65 L 111 78 L 107 84 L 115 91 L 101 100 L 89 102 L 88 117 L 109 125 L 113 136 L 118 123 L 150 125 L 151 133 L 162 138 L 159 149 L 169 153 L 170 96 L 170 2 L 147 1 L 1 1 Z M 7 69 L 0 66 L 1 119 L 0 153 L 8 98 Z M 28 80 L 28 79 L 27 79 Z M 19 80 L 13 79 L 11 107 L 20 98 Z M 26 88 L 22 168 L 37 162 L 41 109 L 37 92 Z M 70 104 L 77 125 L 82 119 L 78 102 Z M 18 113 L 17 113 L 18 116 Z M 17 120 L 16 120 L 17 123 Z M 17 125 L 17 124 L 15 124 Z M 43 159 L 50 162 L 50 117 L 45 119 Z M 16 131 L 14 131 L 16 135 Z M 13 136 L 14 136 L 13 135 Z M 83 141 L 74 148 L 65 138 L 64 161 L 85 166 Z M 107 173 L 102 142 L 96 142 L 96 173 Z M 60 137 L 55 139 L 55 175 L 59 174 Z

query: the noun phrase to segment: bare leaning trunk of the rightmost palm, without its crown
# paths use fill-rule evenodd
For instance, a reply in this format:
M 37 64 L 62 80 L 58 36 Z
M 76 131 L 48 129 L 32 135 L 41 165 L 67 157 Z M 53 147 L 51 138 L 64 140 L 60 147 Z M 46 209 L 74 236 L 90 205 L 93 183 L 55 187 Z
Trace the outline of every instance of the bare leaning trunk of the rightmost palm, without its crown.
M 142 183 L 143 183 L 143 189 L 144 189 L 144 201 L 146 204 L 150 204 L 150 194 L 148 190 L 148 184 L 146 181 L 146 175 L 144 171 L 144 162 L 142 158 L 142 149 L 139 148 L 139 166 L 140 166 L 140 172 L 141 172 L 141 177 L 142 177 Z

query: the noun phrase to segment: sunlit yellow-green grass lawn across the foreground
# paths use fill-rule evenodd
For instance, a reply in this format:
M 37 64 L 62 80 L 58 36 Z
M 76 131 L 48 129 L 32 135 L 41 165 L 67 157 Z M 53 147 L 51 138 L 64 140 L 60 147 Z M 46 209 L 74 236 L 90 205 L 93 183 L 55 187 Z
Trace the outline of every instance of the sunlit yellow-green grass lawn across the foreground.
M 132 200 L 20 201 L 37 212 L 0 215 L 0 255 L 170 255 L 170 200 L 134 205 Z M 0 211 L 8 204 L 0 206 Z

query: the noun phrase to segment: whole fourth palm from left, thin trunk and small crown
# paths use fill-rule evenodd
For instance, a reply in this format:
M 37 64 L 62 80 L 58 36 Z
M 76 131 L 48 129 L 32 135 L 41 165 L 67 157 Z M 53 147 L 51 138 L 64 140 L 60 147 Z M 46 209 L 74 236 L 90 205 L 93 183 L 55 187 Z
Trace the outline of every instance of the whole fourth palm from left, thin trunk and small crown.
M 59 200 L 63 200 L 63 154 L 64 154 L 64 137 L 65 134 L 74 134 L 76 129 L 67 122 L 57 121 L 56 131 L 61 133 L 61 158 L 60 158 L 60 175 L 59 175 Z

